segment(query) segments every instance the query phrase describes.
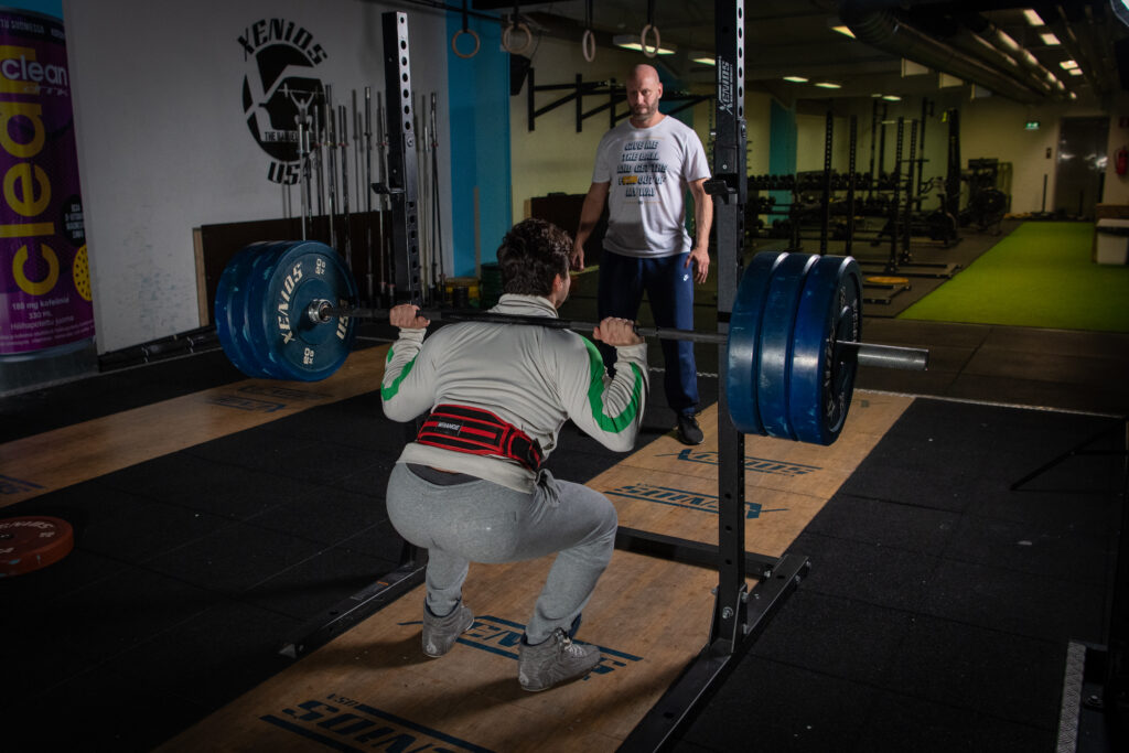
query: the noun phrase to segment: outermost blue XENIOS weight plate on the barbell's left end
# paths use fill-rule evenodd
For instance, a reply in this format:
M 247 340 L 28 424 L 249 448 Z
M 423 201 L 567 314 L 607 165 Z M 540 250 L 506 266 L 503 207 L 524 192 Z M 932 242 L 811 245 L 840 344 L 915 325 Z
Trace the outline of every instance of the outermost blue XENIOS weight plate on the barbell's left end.
M 285 244 L 277 261 L 253 274 L 248 333 L 254 352 L 280 379 L 316 382 L 336 371 L 352 351 L 356 319 L 315 323 L 310 303 L 355 306 L 357 284 L 333 248 L 315 240 Z M 257 310 L 256 310 L 257 306 Z

